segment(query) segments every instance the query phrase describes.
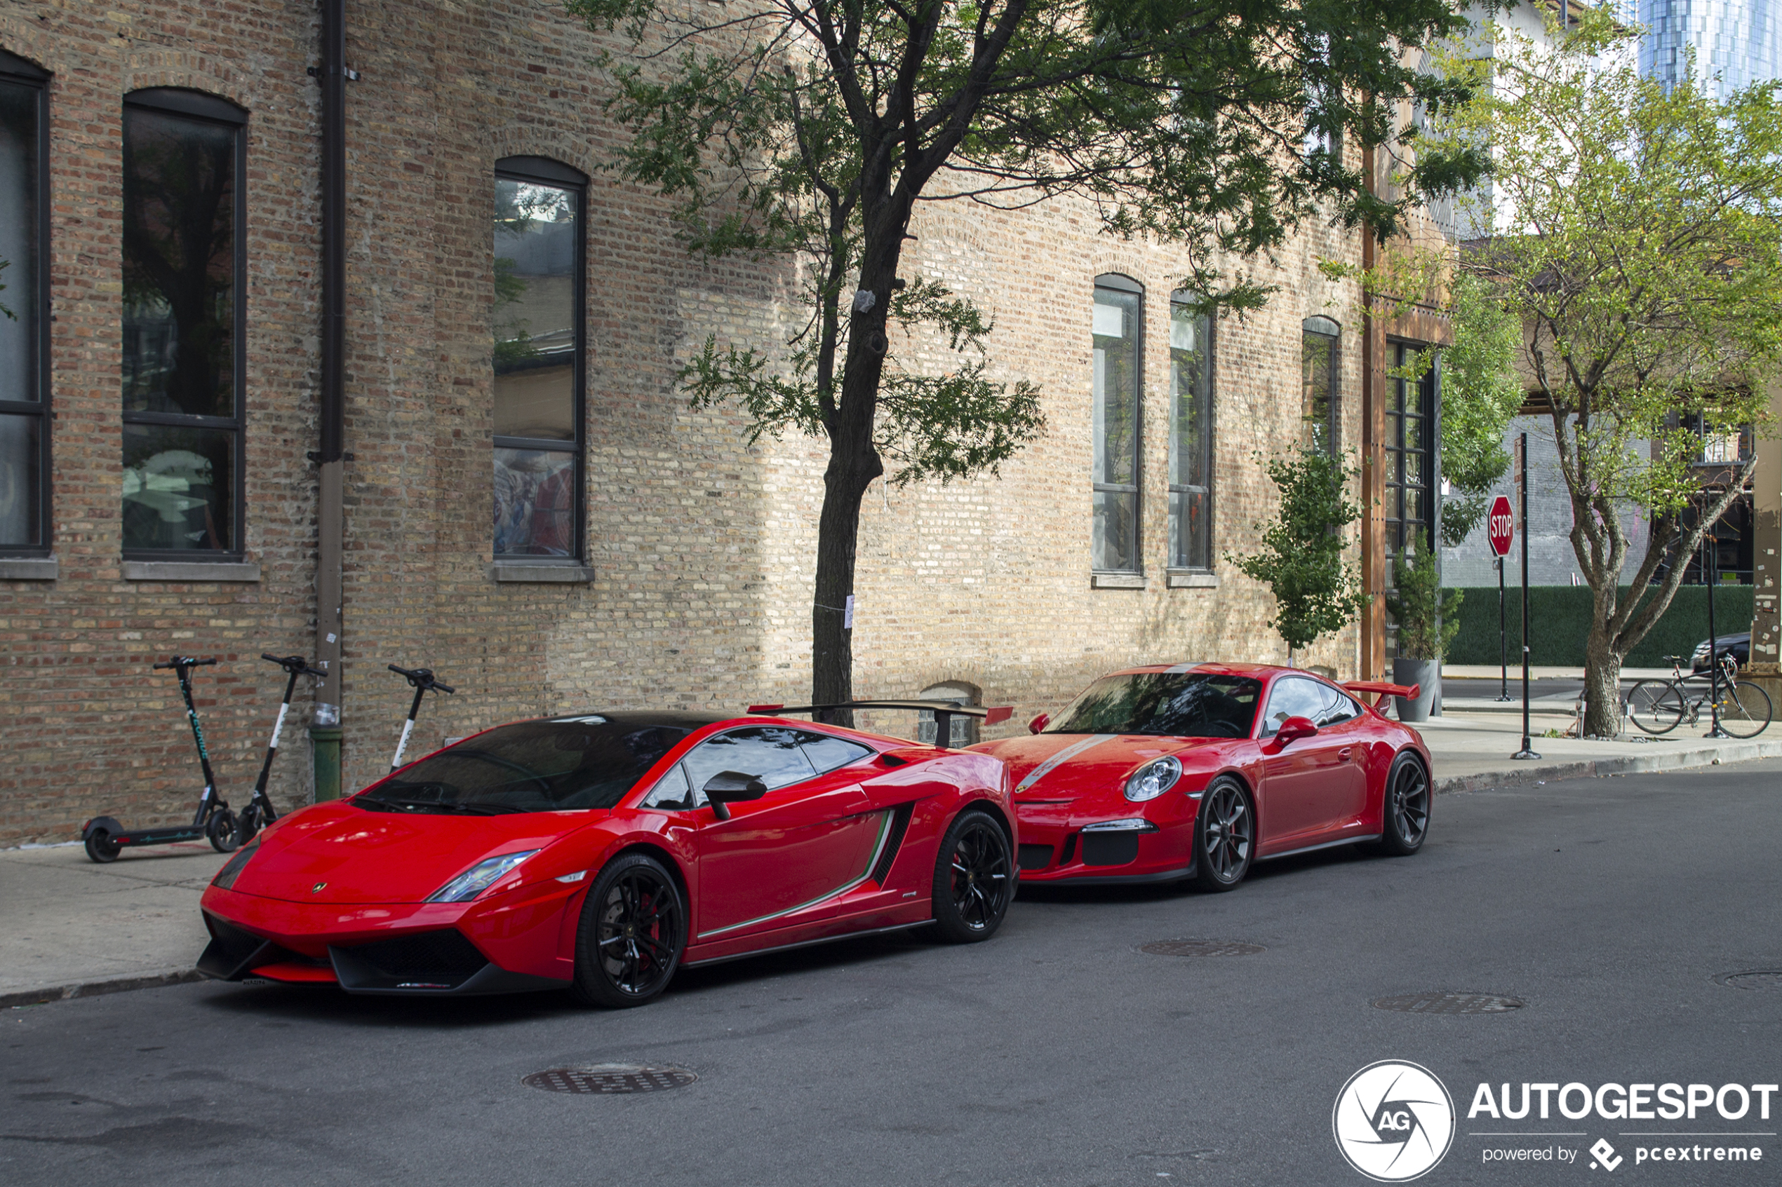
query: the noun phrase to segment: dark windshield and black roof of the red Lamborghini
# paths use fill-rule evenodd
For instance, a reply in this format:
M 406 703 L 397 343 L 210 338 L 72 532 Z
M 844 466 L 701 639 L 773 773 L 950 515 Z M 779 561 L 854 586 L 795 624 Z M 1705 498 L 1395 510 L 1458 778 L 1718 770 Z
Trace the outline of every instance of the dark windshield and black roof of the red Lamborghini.
M 372 812 L 495 815 L 611 808 L 702 721 L 592 714 L 501 726 L 397 771 L 353 799 Z

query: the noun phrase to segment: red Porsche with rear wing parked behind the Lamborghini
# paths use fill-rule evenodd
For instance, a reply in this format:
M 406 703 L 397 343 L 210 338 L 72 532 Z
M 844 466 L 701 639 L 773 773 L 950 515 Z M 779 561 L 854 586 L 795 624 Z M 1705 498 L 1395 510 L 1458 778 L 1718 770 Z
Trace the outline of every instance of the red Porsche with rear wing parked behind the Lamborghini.
M 971 749 L 1009 763 L 1028 883 L 1237 886 L 1253 861 L 1429 831 L 1429 751 L 1338 687 L 1256 664 L 1133 667 L 1096 680 L 1034 737 Z

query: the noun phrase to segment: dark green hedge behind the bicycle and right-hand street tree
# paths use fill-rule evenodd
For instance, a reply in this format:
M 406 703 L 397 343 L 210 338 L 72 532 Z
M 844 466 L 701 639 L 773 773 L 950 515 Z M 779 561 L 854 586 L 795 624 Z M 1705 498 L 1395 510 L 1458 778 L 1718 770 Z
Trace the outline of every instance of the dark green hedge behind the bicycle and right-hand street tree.
M 1752 585 L 1714 587 L 1714 630 L 1721 635 L 1750 630 Z M 1459 635 L 1449 648 L 1449 664 L 1497 662 L 1497 585 L 1468 587 L 1459 607 Z M 1622 587 L 1627 598 L 1629 587 Z M 1509 623 L 1509 662 L 1522 653 L 1522 587 L 1504 591 Z M 1529 662 L 1582 667 L 1590 634 L 1588 585 L 1529 585 Z M 1707 639 L 1707 585 L 1682 585 L 1647 637 L 1627 655 L 1629 667 L 1664 667 L 1666 655 L 1689 655 Z

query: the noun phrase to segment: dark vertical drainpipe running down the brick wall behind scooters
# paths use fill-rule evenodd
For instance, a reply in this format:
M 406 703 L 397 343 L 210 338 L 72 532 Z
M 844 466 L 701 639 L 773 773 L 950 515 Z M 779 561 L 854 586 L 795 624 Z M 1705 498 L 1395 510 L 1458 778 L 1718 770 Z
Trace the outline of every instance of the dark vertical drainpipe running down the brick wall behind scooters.
M 315 799 L 340 797 L 340 505 L 346 438 L 346 0 L 321 0 L 323 53 L 323 374 L 315 529 L 315 692 L 310 746 Z

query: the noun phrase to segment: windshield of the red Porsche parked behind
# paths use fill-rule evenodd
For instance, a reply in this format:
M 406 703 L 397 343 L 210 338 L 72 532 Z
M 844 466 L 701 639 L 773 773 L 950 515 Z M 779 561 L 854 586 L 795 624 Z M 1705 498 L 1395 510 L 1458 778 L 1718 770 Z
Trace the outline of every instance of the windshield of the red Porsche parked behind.
M 1247 739 L 1262 682 L 1201 673 L 1103 676 L 1046 733 L 1165 733 Z

